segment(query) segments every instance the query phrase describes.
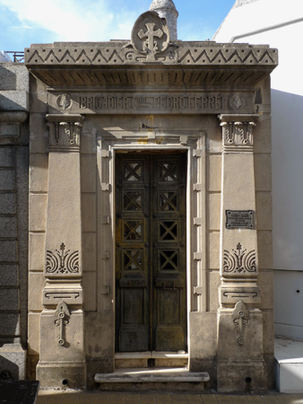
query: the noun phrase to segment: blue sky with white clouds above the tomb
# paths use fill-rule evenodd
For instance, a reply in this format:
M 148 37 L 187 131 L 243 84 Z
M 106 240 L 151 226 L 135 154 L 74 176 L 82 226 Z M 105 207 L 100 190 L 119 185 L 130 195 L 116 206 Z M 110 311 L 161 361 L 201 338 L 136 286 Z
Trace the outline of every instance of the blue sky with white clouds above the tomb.
M 175 0 L 179 40 L 207 40 L 235 0 Z M 31 43 L 128 40 L 152 0 L 0 0 L 0 49 Z

